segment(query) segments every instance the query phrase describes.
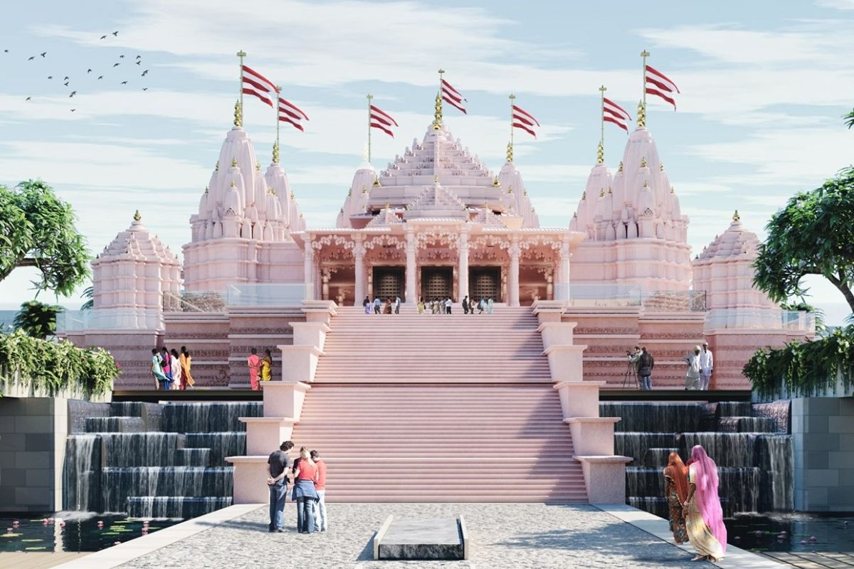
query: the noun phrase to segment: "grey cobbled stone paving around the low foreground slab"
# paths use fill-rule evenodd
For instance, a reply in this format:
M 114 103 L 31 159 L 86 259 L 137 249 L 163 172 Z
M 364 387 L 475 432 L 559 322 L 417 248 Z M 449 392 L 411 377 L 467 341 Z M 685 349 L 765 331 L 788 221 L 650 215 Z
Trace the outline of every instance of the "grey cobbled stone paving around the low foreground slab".
M 459 567 L 459 569 L 635 569 L 711 567 L 610 514 L 587 505 L 327 504 L 330 530 L 295 532 L 295 505 L 285 507 L 286 531 L 267 533 L 267 508 L 202 531 L 127 562 L 125 569 L 166 567 Z M 465 516 L 471 536 L 465 561 L 374 561 L 371 537 L 389 515 Z

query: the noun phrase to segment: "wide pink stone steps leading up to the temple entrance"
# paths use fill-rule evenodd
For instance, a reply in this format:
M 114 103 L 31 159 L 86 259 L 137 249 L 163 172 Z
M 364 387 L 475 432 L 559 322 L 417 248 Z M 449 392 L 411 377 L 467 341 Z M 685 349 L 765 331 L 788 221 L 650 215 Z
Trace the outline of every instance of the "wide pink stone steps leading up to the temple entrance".
M 332 318 L 293 439 L 330 502 L 586 502 L 529 308 Z

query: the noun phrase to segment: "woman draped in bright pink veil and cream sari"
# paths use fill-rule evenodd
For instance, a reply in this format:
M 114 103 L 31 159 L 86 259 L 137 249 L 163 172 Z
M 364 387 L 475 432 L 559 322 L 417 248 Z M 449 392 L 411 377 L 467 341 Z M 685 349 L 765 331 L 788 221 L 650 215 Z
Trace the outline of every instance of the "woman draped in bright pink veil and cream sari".
M 691 461 L 684 511 L 688 539 L 697 550 L 693 561 L 721 560 L 727 550 L 727 528 L 717 496 L 717 465 L 699 444 L 691 449 Z

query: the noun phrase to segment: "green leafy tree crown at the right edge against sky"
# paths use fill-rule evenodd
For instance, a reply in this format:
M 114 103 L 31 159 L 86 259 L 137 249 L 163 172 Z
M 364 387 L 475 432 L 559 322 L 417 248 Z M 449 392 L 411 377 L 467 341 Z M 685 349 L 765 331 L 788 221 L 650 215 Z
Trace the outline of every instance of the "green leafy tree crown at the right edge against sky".
M 803 296 L 801 279 L 821 275 L 845 296 L 854 312 L 854 168 L 821 188 L 788 200 L 765 226 L 753 283 L 775 302 Z

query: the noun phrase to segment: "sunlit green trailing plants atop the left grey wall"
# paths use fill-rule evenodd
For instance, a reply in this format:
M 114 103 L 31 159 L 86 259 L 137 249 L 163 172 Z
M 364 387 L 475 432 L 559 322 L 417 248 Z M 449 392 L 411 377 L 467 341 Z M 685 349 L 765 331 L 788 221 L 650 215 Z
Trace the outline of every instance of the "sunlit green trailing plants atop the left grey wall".
M 113 388 L 120 373 L 113 356 L 102 348 L 83 349 L 66 340 L 38 340 L 20 330 L 0 334 L 0 378 L 20 381 L 51 397 L 75 387 L 86 398 L 103 395 Z

